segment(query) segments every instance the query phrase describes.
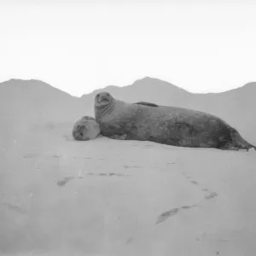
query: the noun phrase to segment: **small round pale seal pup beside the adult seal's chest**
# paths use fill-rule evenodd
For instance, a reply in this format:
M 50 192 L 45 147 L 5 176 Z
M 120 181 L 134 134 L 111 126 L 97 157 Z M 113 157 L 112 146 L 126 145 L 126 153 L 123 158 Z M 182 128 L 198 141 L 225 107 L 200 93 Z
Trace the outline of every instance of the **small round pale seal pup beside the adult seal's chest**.
M 84 116 L 73 126 L 72 135 L 76 141 L 89 141 L 95 139 L 101 133 L 100 125 L 96 119 Z

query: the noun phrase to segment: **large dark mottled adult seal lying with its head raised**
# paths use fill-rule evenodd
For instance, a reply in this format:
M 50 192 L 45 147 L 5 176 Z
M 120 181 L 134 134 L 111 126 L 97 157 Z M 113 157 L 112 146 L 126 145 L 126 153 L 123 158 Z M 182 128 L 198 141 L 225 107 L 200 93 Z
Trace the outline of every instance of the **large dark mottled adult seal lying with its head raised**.
M 94 110 L 105 137 L 191 148 L 256 149 L 235 128 L 209 113 L 148 102 L 126 103 L 108 92 L 96 94 Z

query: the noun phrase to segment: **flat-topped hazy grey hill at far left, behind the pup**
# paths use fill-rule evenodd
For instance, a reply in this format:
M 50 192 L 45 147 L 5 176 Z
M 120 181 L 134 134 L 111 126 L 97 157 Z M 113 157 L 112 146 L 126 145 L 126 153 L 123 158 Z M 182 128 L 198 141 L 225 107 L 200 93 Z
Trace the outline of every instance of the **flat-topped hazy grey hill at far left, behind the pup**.
M 0 113 L 4 119 L 17 119 L 19 115 L 19 119 L 39 123 L 68 120 L 79 104 L 79 98 L 39 80 L 11 79 L 0 84 Z

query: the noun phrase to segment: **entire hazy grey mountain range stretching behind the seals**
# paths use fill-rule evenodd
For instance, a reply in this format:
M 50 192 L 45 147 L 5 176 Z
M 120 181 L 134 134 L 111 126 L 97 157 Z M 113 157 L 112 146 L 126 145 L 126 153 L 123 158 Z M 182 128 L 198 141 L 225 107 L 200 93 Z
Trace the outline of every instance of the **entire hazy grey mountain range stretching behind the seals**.
M 146 101 L 213 113 L 246 137 L 254 137 L 256 131 L 256 83 L 222 93 L 194 94 L 166 81 L 148 77 L 125 87 L 111 85 L 94 90 L 80 98 L 39 80 L 11 79 L 0 84 L 2 122 L 10 125 L 25 121 L 29 124 L 73 122 L 85 114 L 93 116 L 94 96 L 103 90 L 125 102 Z

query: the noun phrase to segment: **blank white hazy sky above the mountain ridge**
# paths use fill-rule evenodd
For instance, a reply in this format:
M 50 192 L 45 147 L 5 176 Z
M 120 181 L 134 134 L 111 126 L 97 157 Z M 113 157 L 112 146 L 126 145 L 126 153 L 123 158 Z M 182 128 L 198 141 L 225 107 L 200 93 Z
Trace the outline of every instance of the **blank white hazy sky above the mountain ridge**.
M 192 92 L 256 81 L 256 2 L 0 0 L 0 82 L 74 96 L 145 76 Z

